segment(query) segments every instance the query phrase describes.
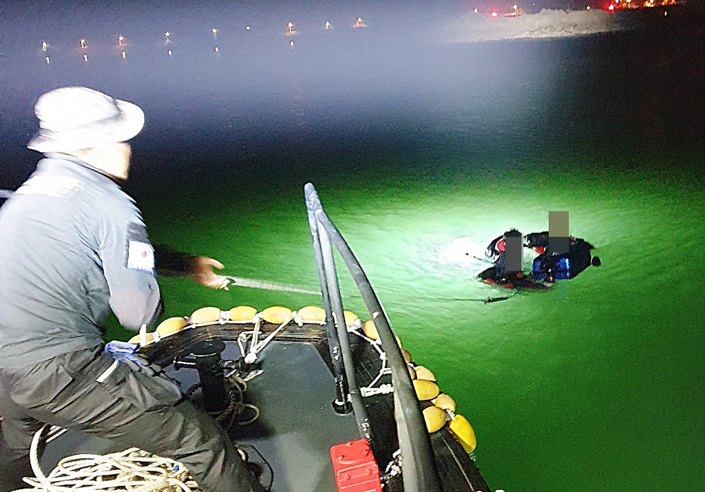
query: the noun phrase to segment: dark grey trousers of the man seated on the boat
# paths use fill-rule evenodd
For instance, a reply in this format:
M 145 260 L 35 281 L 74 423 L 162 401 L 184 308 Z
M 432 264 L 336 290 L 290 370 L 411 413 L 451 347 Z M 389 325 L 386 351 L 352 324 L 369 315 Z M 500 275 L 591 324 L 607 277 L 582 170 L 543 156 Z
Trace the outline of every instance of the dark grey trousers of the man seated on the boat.
M 0 369 L 0 492 L 25 488 L 34 476 L 29 448 L 43 424 L 76 429 L 127 448 L 182 462 L 206 492 L 259 492 L 225 431 L 184 400 L 163 375 L 120 363 L 102 347 L 68 352 L 22 369 Z

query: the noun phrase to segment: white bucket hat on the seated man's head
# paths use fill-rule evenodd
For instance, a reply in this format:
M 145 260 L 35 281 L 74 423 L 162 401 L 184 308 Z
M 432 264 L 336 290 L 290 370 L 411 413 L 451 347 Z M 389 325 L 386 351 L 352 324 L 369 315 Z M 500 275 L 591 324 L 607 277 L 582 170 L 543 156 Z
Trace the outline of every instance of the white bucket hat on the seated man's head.
M 87 87 L 61 87 L 42 94 L 35 114 L 39 132 L 27 148 L 42 153 L 125 142 L 145 125 L 139 106 Z

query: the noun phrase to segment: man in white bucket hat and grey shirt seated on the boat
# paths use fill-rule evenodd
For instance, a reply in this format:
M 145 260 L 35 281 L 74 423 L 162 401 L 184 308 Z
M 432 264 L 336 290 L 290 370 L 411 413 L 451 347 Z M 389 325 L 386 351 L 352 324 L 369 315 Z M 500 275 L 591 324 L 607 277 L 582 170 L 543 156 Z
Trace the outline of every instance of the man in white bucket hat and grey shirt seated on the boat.
M 44 94 L 35 113 L 27 147 L 45 159 L 0 209 L 0 492 L 33 475 L 28 450 L 44 423 L 183 462 L 207 492 L 262 491 L 171 379 L 133 364 L 107 371 L 104 316 L 136 330 L 161 314 L 154 250 L 116 183 L 144 113 L 85 87 Z

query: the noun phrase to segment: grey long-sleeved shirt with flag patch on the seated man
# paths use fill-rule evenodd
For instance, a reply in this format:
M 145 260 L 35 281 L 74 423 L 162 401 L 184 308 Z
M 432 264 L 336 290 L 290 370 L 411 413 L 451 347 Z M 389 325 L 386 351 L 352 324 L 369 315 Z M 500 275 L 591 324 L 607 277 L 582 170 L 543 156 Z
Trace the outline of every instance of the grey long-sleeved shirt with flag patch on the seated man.
M 111 178 L 47 154 L 0 208 L 0 367 L 99 345 L 111 309 L 135 330 L 161 314 L 145 223 Z

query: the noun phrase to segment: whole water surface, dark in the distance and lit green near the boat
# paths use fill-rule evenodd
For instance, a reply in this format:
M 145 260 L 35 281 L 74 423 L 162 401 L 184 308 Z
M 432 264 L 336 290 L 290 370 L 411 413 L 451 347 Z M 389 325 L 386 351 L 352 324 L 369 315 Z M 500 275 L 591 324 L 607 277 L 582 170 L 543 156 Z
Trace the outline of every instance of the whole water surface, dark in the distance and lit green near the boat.
M 474 426 L 491 486 L 701 488 L 701 19 L 679 11 L 626 32 L 448 44 L 443 16 L 410 28 L 416 12 L 378 9 L 354 30 L 355 8 L 311 8 L 287 37 L 293 4 L 277 16 L 242 5 L 161 12 L 164 22 L 147 7 L 92 22 L 52 11 L 68 19 L 61 29 L 38 14 L 6 20 L 22 28 L 0 37 L 0 185 L 35 164 L 23 146 L 42 92 L 89 85 L 136 102 L 147 123 L 125 188 L 153 240 L 235 276 L 315 288 L 302 202 L 312 181 L 405 348 Z M 250 32 L 248 12 L 262 20 Z M 473 281 L 481 264 L 449 256 L 453 240 L 481 252 L 506 228 L 544 230 L 551 210 L 570 211 L 603 266 L 548 293 L 477 302 L 503 293 Z M 166 316 L 319 302 L 160 284 Z

